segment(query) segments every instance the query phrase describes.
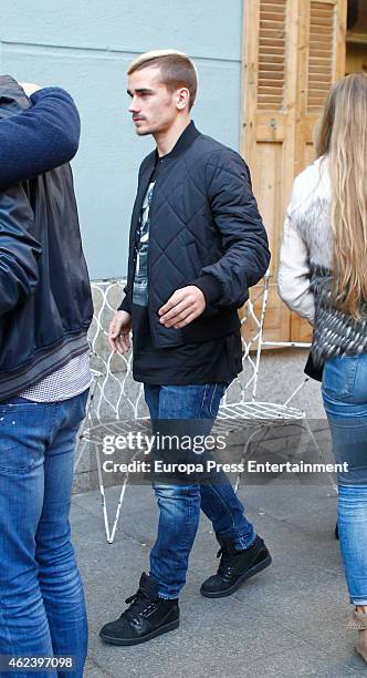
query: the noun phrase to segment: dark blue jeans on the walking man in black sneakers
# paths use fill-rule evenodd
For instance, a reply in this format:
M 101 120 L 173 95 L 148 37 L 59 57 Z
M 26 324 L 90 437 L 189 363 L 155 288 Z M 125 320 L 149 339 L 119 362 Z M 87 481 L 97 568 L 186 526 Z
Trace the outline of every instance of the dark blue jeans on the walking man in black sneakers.
M 148 386 L 145 400 L 151 420 L 202 420 L 205 434 L 213 423 L 224 383 L 203 386 Z M 189 554 L 198 530 L 200 508 L 217 535 L 232 537 L 235 548 L 248 548 L 256 534 L 224 473 L 212 484 L 160 484 L 154 491 L 160 511 L 158 536 L 150 553 L 150 576 L 161 598 L 177 598 L 186 582 Z

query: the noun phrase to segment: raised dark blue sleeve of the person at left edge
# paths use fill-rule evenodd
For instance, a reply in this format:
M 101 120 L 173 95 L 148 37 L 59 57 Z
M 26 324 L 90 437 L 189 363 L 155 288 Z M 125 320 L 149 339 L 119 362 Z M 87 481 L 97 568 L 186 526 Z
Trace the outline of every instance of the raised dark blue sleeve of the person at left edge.
M 39 90 L 33 106 L 0 121 L 0 191 L 70 162 L 78 146 L 81 122 L 67 92 Z

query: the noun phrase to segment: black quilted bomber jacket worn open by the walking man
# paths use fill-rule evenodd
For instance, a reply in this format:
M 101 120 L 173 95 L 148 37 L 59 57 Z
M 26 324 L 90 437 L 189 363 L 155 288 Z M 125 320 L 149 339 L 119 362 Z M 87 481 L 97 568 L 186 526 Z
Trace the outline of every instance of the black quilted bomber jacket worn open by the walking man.
M 237 309 L 265 274 L 268 237 L 242 157 L 198 132 L 193 122 L 174 150 L 141 163 L 129 237 L 125 298 L 132 311 L 135 234 L 156 162 L 160 163 L 149 209 L 148 312 L 156 347 L 174 347 L 230 335 L 240 327 Z M 205 294 L 203 314 L 182 329 L 165 328 L 158 309 L 180 287 Z

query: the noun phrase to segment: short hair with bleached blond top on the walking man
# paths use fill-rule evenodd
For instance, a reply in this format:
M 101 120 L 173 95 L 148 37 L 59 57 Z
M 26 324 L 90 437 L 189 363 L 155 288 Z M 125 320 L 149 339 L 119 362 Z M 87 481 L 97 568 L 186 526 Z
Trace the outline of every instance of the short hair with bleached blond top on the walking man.
M 190 93 L 189 109 L 193 106 L 198 93 L 198 71 L 185 52 L 178 50 L 151 50 L 134 59 L 127 69 L 127 74 L 141 71 L 148 66 L 160 70 L 161 82 L 171 92 L 178 88 L 187 88 Z

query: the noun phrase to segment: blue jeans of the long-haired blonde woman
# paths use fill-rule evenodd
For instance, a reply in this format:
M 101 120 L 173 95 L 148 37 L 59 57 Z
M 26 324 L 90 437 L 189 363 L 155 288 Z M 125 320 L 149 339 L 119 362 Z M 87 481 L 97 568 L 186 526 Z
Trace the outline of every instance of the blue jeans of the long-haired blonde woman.
M 325 363 L 323 400 L 337 463 L 338 527 L 350 602 L 367 605 L 367 356 Z

